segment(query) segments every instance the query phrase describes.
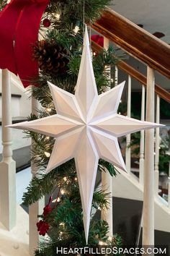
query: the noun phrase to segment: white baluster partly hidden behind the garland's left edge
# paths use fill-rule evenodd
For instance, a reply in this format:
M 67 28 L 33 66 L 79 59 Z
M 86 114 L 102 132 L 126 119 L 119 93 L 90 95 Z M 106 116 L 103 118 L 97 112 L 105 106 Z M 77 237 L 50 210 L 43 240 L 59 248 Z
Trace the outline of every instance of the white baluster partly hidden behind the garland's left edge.
M 32 97 L 32 114 L 37 114 L 37 109 L 40 107 L 40 103 L 35 100 L 35 98 Z M 32 147 L 33 147 L 33 141 L 32 141 Z M 35 166 L 35 163 L 31 163 L 31 172 L 32 177 L 34 177 L 37 173 L 37 166 Z M 39 200 L 38 202 L 33 203 L 29 207 L 29 248 L 30 248 L 30 255 L 35 255 L 35 249 L 37 249 L 39 244 L 39 234 L 37 232 L 37 226 L 36 223 L 39 221 L 37 216 L 41 215 L 44 208 L 44 199 Z

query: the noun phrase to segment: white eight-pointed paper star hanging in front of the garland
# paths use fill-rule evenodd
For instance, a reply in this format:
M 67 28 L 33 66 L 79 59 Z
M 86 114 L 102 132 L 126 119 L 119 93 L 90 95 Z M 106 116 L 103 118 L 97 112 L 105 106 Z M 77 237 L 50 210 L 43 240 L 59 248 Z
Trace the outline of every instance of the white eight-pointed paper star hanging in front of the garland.
M 161 125 L 117 114 L 125 82 L 107 93 L 97 94 L 87 30 L 75 95 L 48 84 L 58 114 L 11 127 L 56 138 L 47 172 L 75 159 L 87 242 L 99 158 L 125 170 L 117 137 Z

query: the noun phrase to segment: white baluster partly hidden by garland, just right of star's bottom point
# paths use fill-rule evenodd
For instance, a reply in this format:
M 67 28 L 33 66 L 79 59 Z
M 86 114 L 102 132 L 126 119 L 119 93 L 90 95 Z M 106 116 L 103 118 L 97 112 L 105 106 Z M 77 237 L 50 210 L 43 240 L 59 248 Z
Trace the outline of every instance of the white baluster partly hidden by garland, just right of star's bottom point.
M 104 38 L 104 48 L 109 47 L 109 40 L 107 38 Z M 109 88 L 108 88 L 109 90 Z M 107 221 L 109 224 L 109 232 L 108 236 L 112 236 L 113 230 L 113 222 L 112 222 L 112 176 L 110 176 L 109 171 L 102 171 L 102 189 L 105 190 L 107 193 L 109 193 L 109 208 L 107 210 L 102 210 L 101 218 L 104 221 Z

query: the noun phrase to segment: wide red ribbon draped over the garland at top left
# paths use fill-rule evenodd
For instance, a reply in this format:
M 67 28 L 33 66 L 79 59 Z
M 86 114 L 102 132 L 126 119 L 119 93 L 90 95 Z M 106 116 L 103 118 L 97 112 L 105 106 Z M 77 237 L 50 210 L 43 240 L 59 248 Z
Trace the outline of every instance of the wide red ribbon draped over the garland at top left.
M 32 60 L 42 14 L 49 0 L 12 0 L 0 13 L 0 68 L 18 74 L 24 88 L 38 76 Z

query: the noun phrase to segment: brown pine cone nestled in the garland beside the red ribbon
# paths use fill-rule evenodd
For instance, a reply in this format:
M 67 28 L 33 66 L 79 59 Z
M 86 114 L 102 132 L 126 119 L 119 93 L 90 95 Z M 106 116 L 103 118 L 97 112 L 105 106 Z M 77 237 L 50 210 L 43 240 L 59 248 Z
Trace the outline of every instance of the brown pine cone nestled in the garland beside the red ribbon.
M 38 61 L 40 70 L 46 74 L 64 74 L 68 64 L 66 56 L 68 51 L 53 41 L 40 40 L 33 47 L 32 58 Z

